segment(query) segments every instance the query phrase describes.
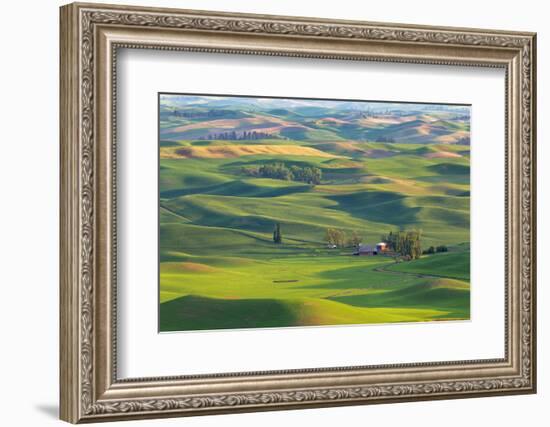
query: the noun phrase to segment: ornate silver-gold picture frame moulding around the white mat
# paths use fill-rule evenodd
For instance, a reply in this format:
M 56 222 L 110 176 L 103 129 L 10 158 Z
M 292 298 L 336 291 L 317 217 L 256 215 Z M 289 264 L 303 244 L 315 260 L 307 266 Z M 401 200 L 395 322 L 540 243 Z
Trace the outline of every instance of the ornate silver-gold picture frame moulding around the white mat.
M 499 67 L 505 357 L 119 379 L 117 49 Z M 61 8 L 61 419 L 113 421 L 536 391 L 536 35 L 99 4 Z

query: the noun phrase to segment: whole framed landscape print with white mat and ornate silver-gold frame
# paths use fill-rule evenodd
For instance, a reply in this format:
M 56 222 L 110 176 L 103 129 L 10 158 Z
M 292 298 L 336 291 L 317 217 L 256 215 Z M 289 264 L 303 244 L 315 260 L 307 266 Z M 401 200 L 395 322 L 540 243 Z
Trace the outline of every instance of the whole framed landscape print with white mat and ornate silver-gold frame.
M 533 393 L 535 34 L 61 8 L 61 418 Z

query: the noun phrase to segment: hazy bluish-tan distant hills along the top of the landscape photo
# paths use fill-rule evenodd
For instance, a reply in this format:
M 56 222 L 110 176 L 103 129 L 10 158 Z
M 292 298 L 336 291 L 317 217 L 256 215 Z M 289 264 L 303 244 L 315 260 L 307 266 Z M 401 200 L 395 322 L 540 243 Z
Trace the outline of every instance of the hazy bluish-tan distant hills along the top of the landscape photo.
M 244 97 L 161 97 L 163 140 L 248 139 L 469 144 L 470 108 L 432 104 Z M 225 135 L 235 132 L 232 135 Z M 246 133 L 245 133 L 246 132 Z

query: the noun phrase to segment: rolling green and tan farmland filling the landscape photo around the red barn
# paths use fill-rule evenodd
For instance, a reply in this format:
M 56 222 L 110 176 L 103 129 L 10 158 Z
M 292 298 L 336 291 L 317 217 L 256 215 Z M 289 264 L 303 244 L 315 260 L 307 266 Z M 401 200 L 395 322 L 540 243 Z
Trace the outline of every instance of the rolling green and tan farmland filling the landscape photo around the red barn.
M 160 95 L 160 331 L 469 319 L 469 117 Z

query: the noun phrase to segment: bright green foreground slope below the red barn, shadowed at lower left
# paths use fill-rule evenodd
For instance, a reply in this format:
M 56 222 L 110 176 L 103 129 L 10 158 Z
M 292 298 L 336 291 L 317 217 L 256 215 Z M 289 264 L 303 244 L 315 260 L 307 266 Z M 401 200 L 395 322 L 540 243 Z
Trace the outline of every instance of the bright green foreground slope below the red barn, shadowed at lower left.
M 374 270 L 387 258 L 187 257 L 163 263 L 161 329 L 425 321 L 469 316 L 469 285 Z M 350 262 L 351 260 L 351 262 Z M 223 286 L 220 286 L 223 283 Z

